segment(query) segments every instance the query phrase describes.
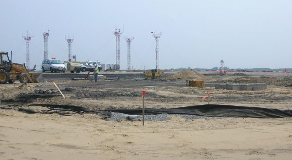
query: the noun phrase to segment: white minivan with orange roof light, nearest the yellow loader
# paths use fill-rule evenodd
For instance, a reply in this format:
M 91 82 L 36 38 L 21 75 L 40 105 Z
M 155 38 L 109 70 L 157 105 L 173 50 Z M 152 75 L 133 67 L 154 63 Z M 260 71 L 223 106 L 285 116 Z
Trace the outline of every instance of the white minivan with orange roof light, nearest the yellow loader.
M 58 59 L 52 58 L 52 59 L 45 59 L 41 63 L 41 71 L 51 71 L 51 72 L 65 72 L 66 71 L 66 66 L 65 64 Z

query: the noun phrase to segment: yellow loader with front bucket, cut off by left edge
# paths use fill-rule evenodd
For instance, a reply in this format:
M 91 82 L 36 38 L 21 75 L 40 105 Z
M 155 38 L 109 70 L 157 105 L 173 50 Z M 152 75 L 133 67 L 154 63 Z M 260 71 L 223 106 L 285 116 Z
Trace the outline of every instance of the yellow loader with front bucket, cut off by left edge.
M 10 58 L 12 58 L 12 51 L 10 52 Z M 20 83 L 44 81 L 41 73 L 29 73 L 25 69 L 25 64 L 12 63 L 8 52 L 0 52 L 0 84 L 13 83 L 15 80 L 19 80 Z

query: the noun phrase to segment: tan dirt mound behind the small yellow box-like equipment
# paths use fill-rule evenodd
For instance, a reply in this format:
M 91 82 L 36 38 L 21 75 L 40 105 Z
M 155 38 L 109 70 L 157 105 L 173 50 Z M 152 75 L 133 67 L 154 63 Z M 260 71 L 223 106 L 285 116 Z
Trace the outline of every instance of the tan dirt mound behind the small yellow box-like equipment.
M 196 71 L 180 71 L 177 74 L 169 76 L 166 80 L 203 80 L 205 77 Z

